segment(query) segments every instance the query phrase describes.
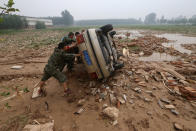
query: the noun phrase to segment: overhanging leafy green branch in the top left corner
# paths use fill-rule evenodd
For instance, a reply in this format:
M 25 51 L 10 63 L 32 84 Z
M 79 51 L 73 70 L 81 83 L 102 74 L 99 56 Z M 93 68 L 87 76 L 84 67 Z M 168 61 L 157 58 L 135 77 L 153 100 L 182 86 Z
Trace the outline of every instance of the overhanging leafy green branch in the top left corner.
M 4 7 L 3 6 L 0 6 L 0 9 L 2 10 L 1 13 L 0 13 L 0 16 L 5 15 L 5 14 L 9 14 L 11 12 L 18 12 L 19 9 L 13 8 L 13 5 L 14 4 L 15 3 L 14 3 L 13 0 L 8 0 L 8 3 L 7 4 L 4 4 Z

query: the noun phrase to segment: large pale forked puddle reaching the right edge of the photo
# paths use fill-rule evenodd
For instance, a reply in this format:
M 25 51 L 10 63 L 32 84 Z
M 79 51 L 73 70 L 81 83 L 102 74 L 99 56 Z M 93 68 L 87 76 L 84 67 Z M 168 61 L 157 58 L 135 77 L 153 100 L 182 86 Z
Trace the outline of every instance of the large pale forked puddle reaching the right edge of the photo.
M 173 42 L 170 43 L 163 43 L 163 46 L 165 47 L 172 47 L 181 53 L 187 53 L 191 54 L 191 50 L 187 50 L 184 47 L 181 46 L 181 44 L 196 44 L 196 37 L 190 37 L 190 36 L 183 36 L 181 34 L 161 34 L 156 35 L 157 37 L 165 37 L 168 40 L 171 40 Z

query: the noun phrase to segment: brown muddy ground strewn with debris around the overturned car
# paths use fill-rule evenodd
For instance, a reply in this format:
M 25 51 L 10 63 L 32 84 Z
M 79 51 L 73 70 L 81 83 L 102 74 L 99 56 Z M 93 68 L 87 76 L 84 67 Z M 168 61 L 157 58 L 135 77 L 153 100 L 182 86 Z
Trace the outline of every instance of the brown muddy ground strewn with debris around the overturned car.
M 55 131 L 173 131 L 175 124 L 181 130 L 195 131 L 196 43 L 182 43 L 192 50 L 187 54 L 164 47 L 162 43 L 170 40 L 155 36 L 156 32 L 141 34 L 131 39 L 115 38 L 119 52 L 127 49 L 120 58 L 125 67 L 107 81 L 91 80 L 82 64 L 75 65 L 72 73 L 64 70 L 72 90 L 70 96 L 63 97 L 62 87 L 51 78 L 46 85 L 48 95 L 37 99 L 31 99 L 33 87 L 41 79 L 62 32 L 1 35 L 0 130 L 21 131 L 27 124 L 35 124 L 35 120 L 41 124 L 54 120 Z M 140 59 L 154 51 L 175 59 Z M 23 68 L 11 69 L 15 65 Z M 80 100 L 82 104 L 78 104 Z M 118 108 L 117 123 L 102 113 L 107 108 L 104 104 Z M 84 111 L 75 114 L 81 108 Z

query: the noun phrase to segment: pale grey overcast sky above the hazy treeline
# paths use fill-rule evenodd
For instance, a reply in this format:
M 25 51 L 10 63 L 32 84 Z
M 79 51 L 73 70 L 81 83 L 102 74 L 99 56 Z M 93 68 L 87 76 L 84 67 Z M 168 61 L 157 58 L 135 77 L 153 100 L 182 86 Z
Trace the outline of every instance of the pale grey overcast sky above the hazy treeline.
M 0 0 L 0 5 L 7 0 Z M 75 20 L 145 18 L 155 12 L 166 18 L 196 14 L 196 0 L 14 0 L 20 15 L 60 16 L 67 9 Z

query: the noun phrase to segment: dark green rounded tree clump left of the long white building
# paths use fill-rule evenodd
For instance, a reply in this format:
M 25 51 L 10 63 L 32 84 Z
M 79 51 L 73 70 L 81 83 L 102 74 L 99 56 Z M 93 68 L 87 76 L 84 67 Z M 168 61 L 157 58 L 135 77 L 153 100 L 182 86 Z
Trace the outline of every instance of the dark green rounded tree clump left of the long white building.
M 26 19 L 17 15 L 4 15 L 1 17 L 0 29 L 22 29 L 28 27 Z

